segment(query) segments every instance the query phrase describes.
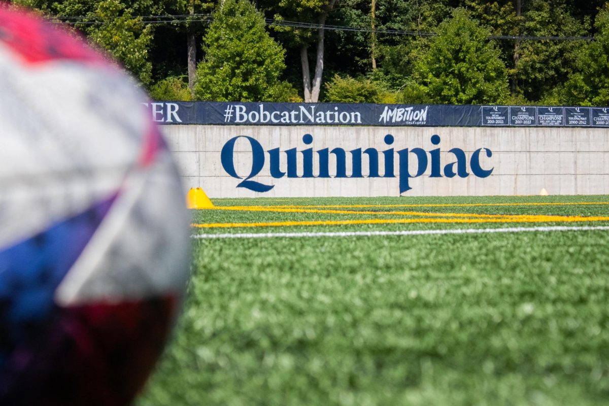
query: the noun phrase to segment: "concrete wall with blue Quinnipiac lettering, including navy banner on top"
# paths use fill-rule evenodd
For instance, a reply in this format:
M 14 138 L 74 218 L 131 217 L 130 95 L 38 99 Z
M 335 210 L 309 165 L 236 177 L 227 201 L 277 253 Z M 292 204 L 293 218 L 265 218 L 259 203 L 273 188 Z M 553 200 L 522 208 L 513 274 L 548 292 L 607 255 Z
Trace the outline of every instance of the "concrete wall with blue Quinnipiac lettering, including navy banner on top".
M 609 108 L 151 102 L 211 197 L 609 193 Z

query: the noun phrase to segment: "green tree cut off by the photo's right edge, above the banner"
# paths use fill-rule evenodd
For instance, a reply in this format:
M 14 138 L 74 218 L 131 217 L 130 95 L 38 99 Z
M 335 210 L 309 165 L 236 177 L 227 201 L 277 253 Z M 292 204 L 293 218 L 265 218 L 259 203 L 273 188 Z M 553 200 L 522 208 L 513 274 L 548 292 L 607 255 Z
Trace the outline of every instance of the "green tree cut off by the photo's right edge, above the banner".
M 609 5 L 594 23 L 594 41 L 577 58 L 577 72 L 560 91 L 560 101 L 570 105 L 609 105 Z

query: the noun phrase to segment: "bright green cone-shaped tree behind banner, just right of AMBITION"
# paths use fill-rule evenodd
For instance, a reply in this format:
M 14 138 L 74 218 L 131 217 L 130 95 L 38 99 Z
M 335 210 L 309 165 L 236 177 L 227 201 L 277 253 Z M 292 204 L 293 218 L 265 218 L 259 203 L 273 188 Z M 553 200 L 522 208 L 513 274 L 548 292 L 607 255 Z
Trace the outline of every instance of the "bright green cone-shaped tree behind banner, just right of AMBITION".
M 457 9 L 415 61 L 404 101 L 479 104 L 507 99 L 507 69 L 488 35 L 469 13 Z

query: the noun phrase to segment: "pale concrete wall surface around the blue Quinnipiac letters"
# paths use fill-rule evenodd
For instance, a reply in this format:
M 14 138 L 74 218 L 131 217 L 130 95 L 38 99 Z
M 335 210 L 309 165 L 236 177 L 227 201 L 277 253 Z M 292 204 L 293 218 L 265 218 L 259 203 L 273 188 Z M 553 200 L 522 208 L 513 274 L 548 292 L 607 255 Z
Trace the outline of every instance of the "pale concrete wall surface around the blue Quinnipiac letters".
M 440 148 L 442 169 L 456 161 L 449 153 L 462 149 L 471 157 L 476 149 L 490 149 L 490 158 L 481 153 L 481 166 L 493 168 L 487 178 L 471 174 L 466 178 L 432 178 L 431 163 L 423 176 L 409 180 L 411 190 L 403 195 L 531 195 L 541 188 L 549 194 L 609 194 L 609 130 L 602 128 L 432 128 L 432 127 L 244 127 L 167 125 L 163 127 L 170 149 L 183 175 L 185 186 L 202 187 L 209 197 L 317 197 L 317 196 L 397 196 L 400 195 L 399 161 L 394 154 L 395 178 L 367 178 L 368 160 L 362 159 L 364 178 L 272 178 L 269 154 L 264 167 L 251 180 L 274 185 L 265 193 L 236 187 L 241 181 L 230 177 L 222 167 L 220 151 L 235 136 L 250 136 L 265 151 L 280 147 L 281 151 L 297 148 L 298 175 L 302 174 L 300 151 L 340 147 L 347 151 L 347 174 L 351 174 L 350 150 L 368 147 L 379 151 L 379 172 L 384 173 L 383 150 L 396 151 L 420 147 L 430 151 Z M 314 141 L 305 145 L 303 135 Z M 393 145 L 386 145 L 384 136 L 392 134 Z M 441 138 L 438 146 L 431 136 Z M 314 174 L 318 175 L 318 156 L 314 153 Z M 330 154 L 330 172 L 336 166 Z M 410 173 L 417 172 L 417 158 L 410 153 Z M 429 157 L 429 153 L 428 153 Z M 468 164 L 469 165 L 469 164 Z M 281 170 L 286 171 L 286 154 L 281 153 Z M 252 146 L 239 139 L 234 148 L 234 167 L 238 175 L 247 177 L 252 169 Z M 468 172 L 471 173 L 468 166 Z M 442 172 L 443 173 L 443 172 Z

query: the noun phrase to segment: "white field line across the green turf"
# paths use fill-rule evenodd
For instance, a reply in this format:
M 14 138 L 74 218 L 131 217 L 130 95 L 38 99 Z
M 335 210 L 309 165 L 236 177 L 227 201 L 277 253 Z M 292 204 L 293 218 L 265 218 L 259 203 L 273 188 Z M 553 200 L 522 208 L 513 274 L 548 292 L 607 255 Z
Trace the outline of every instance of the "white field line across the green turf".
M 344 231 L 335 233 L 235 233 L 235 234 L 194 234 L 193 239 L 228 238 L 299 238 L 299 237 L 382 237 L 382 236 L 429 236 L 446 234 L 493 234 L 493 233 L 549 233 L 552 231 L 609 231 L 609 226 L 597 227 L 511 227 L 511 228 L 452 228 L 403 231 Z

